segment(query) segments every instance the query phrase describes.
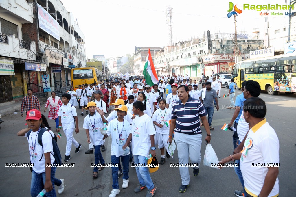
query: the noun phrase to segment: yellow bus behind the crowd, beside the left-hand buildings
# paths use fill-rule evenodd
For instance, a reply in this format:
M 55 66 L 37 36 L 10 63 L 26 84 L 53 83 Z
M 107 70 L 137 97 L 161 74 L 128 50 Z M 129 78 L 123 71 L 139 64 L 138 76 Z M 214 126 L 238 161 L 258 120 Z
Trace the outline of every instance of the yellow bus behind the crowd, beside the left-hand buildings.
M 78 89 L 78 85 L 82 84 L 93 84 L 103 80 L 102 71 L 95 67 L 82 67 L 71 69 L 71 85 L 74 90 Z

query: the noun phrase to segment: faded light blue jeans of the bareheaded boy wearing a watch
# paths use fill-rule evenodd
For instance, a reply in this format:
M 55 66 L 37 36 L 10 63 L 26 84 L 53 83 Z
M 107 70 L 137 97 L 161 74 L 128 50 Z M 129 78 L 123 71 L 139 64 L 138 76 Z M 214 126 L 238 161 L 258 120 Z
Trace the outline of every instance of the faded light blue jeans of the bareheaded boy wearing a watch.
M 145 164 L 147 165 L 146 157 L 141 155 L 133 155 L 135 164 Z M 138 180 L 141 185 L 147 186 L 147 189 L 152 190 L 154 188 L 154 184 L 149 174 L 148 167 L 136 167 L 136 172 L 138 176 Z

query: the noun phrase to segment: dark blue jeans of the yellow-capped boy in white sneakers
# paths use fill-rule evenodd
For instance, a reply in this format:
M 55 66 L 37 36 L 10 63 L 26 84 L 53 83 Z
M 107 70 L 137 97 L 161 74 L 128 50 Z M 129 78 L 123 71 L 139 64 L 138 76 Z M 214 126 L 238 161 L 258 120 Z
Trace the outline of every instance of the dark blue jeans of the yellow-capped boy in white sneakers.
M 111 156 L 111 163 L 112 164 L 119 164 L 120 163 L 120 157 L 121 157 L 121 163 L 123 165 L 123 177 L 122 179 L 128 180 L 128 170 L 129 170 L 129 155 L 126 156 L 119 156 L 116 157 L 115 155 Z M 113 180 L 113 184 L 112 184 L 112 188 L 113 189 L 119 189 L 119 185 L 118 185 L 118 167 L 111 167 L 112 169 L 112 180 Z

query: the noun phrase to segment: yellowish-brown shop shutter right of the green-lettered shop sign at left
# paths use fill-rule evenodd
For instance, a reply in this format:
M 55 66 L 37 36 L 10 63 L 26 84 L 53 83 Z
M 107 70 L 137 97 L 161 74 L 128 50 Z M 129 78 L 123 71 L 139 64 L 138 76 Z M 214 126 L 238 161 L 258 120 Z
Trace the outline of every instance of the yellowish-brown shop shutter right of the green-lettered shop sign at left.
M 23 97 L 24 88 L 22 83 L 22 69 L 21 64 L 15 64 L 15 75 L 10 75 L 11 88 L 12 88 L 12 97 Z

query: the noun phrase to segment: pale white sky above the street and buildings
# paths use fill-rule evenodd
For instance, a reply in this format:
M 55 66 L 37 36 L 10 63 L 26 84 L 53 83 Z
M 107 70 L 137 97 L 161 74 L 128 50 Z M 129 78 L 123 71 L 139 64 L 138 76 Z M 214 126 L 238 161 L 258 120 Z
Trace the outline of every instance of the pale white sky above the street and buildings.
M 234 17 L 227 17 L 229 0 L 61 0 L 73 12 L 85 35 L 86 56 L 106 58 L 135 53 L 138 47 L 160 47 L 168 44 L 165 10 L 172 8 L 173 42 L 202 38 L 212 33 L 234 33 Z M 243 9 L 243 4 L 284 5 L 285 0 L 231 0 L 243 12 L 237 15 L 237 31 L 252 33 L 264 18 L 259 11 Z M 289 1 L 289 0 L 287 0 Z M 295 6 L 296 7 L 296 6 Z M 263 10 L 261 12 L 264 12 Z M 284 12 L 275 10 L 274 12 Z M 286 16 L 277 16 L 284 18 Z

